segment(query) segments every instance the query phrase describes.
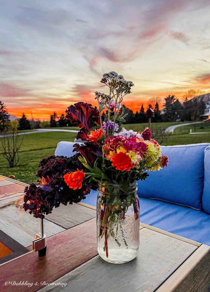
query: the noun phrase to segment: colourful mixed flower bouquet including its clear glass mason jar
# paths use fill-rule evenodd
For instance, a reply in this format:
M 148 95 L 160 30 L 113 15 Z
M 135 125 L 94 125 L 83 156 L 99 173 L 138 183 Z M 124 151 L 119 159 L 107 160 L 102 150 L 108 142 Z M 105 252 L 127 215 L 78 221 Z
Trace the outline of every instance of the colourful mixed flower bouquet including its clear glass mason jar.
M 72 204 L 98 189 L 97 248 L 101 258 L 125 263 L 137 256 L 139 248 L 138 180 L 148 171 L 168 164 L 161 147 L 152 139 L 150 128 L 142 133 L 127 131 L 123 97 L 133 82 L 116 72 L 103 74 L 100 81 L 108 94 L 95 92 L 98 108 L 84 102 L 70 105 L 66 118 L 80 128 L 72 157 L 43 159 L 37 176 L 39 186 L 25 189 L 24 209 L 37 218 L 60 204 Z

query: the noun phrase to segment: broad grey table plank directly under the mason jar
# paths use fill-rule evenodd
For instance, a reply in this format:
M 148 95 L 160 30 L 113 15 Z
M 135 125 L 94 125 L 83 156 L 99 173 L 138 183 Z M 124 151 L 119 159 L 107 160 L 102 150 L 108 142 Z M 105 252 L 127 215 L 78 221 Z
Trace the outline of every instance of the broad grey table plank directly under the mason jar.
M 153 292 L 196 248 L 192 244 L 143 228 L 140 230 L 139 256 L 135 260 L 123 265 L 112 265 L 97 256 L 55 281 L 67 283 L 65 287 L 46 286 L 41 292 Z

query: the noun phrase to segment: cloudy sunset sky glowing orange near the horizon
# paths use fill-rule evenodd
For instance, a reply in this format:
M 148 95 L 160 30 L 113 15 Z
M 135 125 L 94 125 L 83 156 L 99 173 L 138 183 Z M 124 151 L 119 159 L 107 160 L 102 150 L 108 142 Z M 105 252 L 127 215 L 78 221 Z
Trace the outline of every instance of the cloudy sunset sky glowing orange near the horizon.
M 101 75 L 134 82 L 134 111 L 152 97 L 210 92 L 209 0 L 7 0 L 0 4 L 0 100 L 49 119 L 94 102 Z

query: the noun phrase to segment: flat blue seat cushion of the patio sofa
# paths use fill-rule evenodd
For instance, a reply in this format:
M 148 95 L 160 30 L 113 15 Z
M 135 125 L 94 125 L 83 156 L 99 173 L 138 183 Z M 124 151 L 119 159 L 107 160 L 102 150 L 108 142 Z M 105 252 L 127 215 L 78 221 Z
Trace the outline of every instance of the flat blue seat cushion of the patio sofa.
M 82 202 L 96 207 L 97 191 Z M 139 197 L 140 222 L 210 245 L 210 215 L 203 211 Z

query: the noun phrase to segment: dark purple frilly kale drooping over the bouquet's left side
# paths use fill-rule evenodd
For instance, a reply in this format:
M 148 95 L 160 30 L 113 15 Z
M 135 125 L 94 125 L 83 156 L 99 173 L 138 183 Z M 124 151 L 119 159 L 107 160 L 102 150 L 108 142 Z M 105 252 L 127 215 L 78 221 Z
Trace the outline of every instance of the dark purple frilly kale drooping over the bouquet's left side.
M 84 179 L 80 190 L 70 189 L 64 181 L 63 175 L 76 171 L 77 168 L 87 171 L 79 162 L 78 155 L 72 157 L 50 156 L 42 159 L 39 164 L 41 169 L 37 172 L 37 176 L 41 179 L 39 186 L 31 183 L 25 188 L 24 204 L 25 211 L 36 218 L 44 218 L 44 214 L 52 212 L 53 208 L 57 208 L 60 204 L 67 205 L 78 203 L 86 198 L 86 195 L 92 190 L 97 190 L 96 182 L 89 183 L 88 179 Z

